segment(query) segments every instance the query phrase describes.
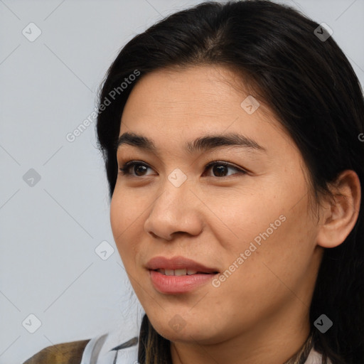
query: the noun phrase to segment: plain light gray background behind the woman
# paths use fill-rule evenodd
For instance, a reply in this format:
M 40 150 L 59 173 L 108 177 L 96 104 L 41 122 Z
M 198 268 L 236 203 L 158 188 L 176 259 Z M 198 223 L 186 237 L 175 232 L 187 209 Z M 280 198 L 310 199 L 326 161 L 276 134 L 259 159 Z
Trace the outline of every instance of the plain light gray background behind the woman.
M 200 2 L 0 0 L 0 363 L 114 328 L 138 333 L 142 309 L 109 228 L 95 123 L 73 142 L 66 135 L 93 111 L 122 45 Z M 364 1 L 280 2 L 327 23 L 363 85 Z M 42 32 L 33 42 L 22 34 L 31 22 Z M 23 181 L 30 168 L 41 176 L 34 186 Z M 102 241 L 114 247 L 106 260 L 95 253 Z M 29 314 L 42 323 L 35 333 Z

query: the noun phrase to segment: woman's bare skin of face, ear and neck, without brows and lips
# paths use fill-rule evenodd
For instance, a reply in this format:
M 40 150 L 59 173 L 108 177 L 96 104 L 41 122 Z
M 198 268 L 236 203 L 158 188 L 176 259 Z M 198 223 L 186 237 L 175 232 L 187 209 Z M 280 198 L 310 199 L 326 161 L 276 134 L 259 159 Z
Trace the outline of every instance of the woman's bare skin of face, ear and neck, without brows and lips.
M 171 341 L 173 364 L 288 360 L 309 335 L 320 245 L 341 244 L 358 215 L 360 183 L 352 171 L 340 184 L 345 202 L 338 199 L 342 205 L 335 206 L 323 199 L 317 215 L 299 150 L 262 102 L 252 114 L 245 112 L 240 104 L 249 93 L 236 80 L 223 67 L 159 70 L 139 80 L 122 114 L 119 135 L 152 139 L 158 155 L 119 147 L 119 167 L 137 160 L 149 168 L 119 174 L 112 232 L 149 320 Z M 266 151 L 184 149 L 187 141 L 228 132 L 254 139 Z M 216 160 L 232 164 L 223 176 L 206 168 Z M 168 180 L 175 168 L 187 177 L 178 188 Z M 220 287 L 208 283 L 185 294 L 154 289 L 145 267 L 152 257 L 182 255 L 224 272 L 282 215 L 284 222 Z M 169 324 L 176 315 L 185 324 L 181 331 Z

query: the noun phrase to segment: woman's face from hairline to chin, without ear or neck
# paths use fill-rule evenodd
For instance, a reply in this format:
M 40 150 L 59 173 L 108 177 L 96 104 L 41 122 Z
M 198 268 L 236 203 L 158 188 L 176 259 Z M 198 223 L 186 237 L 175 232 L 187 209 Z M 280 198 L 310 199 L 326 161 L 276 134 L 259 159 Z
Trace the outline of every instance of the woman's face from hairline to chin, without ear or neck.
M 149 320 L 171 341 L 308 323 L 322 248 L 304 161 L 234 79 L 222 67 L 159 70 L 137 83 L 122 114 L 119 136 L 144 141 L 119 144 L 119 167 L 137 165 L 117 177 L 112 232 Z M 207 269 L 181 259 L 151 267 L 154 257 Z

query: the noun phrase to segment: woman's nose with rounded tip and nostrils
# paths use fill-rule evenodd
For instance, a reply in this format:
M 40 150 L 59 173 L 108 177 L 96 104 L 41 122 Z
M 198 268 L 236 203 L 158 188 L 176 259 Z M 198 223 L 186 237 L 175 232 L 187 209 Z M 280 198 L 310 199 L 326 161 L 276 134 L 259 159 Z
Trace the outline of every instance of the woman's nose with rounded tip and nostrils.
M 188 181 L 176 187 L 166 180 L 164 189 L 151 205 L 144 230 L 155 238 L 172 240 L 178 233 L 196 236 L 203 229 L 203 203 Z

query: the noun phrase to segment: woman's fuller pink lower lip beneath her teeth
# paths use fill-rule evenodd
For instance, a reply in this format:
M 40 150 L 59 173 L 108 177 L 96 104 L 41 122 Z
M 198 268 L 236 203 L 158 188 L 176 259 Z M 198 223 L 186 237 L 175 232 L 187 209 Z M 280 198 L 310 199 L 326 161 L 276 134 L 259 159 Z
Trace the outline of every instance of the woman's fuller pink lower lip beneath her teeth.
M 149 270 L 151 282 L 157 291 L 166 294 L 178 294 L 192 291 L 196 287 L 210 282 L 216 274 L 191 274 L 191 276 L 166 276 Z

